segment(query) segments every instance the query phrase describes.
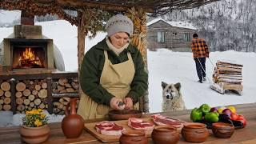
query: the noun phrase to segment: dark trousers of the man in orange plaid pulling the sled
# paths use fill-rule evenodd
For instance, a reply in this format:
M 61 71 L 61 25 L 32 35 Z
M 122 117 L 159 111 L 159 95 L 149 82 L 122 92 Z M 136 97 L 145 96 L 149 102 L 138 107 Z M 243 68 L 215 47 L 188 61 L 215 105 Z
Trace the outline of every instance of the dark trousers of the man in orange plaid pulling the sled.
M 206 77 L 206 58 L 194 58 L 194 62 L 197 68 L 198 78 L 202 82 L 202 78 Z

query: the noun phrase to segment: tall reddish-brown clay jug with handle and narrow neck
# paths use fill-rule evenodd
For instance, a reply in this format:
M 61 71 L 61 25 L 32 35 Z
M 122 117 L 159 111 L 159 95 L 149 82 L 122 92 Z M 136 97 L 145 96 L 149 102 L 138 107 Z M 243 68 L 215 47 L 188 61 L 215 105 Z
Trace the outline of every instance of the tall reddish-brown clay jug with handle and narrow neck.
M 78 138 L 82 134 L 84 121 L 83 118 L 76 113 L 76 101 L 77 98 L 70 99 L 70 102 L 66 106 L 66 116 L 62 119 L 62 131 L 66 138 Z

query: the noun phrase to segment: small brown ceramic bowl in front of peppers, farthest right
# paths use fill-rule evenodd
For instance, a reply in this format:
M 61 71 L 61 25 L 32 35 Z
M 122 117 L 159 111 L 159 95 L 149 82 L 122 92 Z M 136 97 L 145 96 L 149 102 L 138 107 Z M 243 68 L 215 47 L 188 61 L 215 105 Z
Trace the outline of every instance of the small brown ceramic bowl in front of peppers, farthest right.
M 230 138 L 234 134 L 234 126 L 230 123 L 215 122 L 211 130 L 218 138 Z

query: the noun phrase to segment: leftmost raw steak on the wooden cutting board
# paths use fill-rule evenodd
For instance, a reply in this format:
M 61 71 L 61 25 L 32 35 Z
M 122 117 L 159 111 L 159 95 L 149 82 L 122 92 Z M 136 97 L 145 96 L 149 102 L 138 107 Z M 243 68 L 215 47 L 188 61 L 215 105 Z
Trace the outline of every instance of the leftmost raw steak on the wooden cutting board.
M 121 135 L 124 127 L 115 124 L 114 122 L 102 121 L 95 125 L 96 131 L 104 135 Z

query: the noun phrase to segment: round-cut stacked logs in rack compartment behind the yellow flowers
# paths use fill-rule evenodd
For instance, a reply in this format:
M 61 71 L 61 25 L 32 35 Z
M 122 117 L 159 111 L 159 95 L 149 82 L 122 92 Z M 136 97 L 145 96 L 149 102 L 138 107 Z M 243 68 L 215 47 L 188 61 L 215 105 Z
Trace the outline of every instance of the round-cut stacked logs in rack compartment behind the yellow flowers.
M 22 80 L 17 82 L 15 102 L 17 111 L 24 113 L 33 108 L 47 109 L 47 82 L 42 80 Z

